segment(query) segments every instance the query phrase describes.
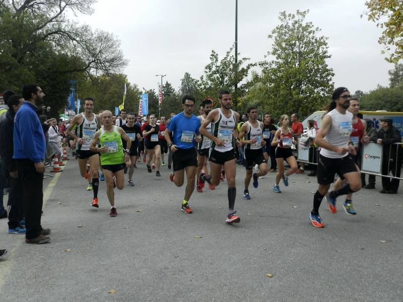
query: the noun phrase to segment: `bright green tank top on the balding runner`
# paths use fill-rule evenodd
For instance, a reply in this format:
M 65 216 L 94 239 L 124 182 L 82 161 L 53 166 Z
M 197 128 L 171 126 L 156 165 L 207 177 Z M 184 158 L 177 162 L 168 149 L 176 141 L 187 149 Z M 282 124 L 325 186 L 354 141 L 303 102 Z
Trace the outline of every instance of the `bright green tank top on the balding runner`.
M 101 165 L 117 165 L 124 163 L 122 138 L 119 133 L 119 127 L 113 126 L 112 132 L 105 132 L 102 127 L 99 129 L 99 142 L 101 147 L 108 147 L 106 153 L 101 153 Z

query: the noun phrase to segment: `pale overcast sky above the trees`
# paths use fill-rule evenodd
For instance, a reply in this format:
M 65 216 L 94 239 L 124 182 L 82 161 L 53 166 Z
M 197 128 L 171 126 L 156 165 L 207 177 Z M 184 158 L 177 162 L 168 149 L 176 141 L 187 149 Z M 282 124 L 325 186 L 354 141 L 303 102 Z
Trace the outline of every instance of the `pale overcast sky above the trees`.
M 392 64 L 378 43 L 381 31 L 360 15 L 364 0 L 239 0 L 238 52 L 260 61 L 271 47 L 267 35 L 279 24 L 279 13 L 310 12 L 306 21 L 328 37 L 334 85 L 351 92 L 387 85 Z M 124 73 L 139 88 L 157 88 L 156 74 L 166 74 L 175 88 L 185 72 L 198 78 L 211 50 L 220 58 L 235 40 L 235 0 L 99 0 L 94 14 L 79 22 L 112 32 L 129 60 Z

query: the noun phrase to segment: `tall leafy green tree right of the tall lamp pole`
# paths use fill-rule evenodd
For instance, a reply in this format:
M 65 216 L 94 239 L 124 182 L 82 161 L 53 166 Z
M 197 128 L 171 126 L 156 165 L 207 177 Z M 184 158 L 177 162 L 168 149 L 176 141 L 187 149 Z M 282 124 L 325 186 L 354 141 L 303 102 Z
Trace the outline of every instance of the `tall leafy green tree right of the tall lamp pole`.
M 330 58 L 327 38 L 318 36 L 320 29 L 311 22 L 304 22 L 308 12 L 280 13 L 281 24 L 268 35 L 273 48 L 267 56 L 275 59 L 260 66 L 272 114 L 308 115 L 323 107 L 333 91 L 334 73 L 326 63 Z

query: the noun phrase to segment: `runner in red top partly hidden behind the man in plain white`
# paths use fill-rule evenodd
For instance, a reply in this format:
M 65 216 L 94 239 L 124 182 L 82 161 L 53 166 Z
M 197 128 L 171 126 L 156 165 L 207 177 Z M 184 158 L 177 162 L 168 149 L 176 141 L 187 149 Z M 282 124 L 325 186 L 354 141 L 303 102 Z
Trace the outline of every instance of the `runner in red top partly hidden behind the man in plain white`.
M 352 125 L 353 125 L 353 132 L 350 135 L 351 142 L 353 143 L 354 148 L 356 149 L 356 155 L 350 154 L 350 157 L 353 159 L 355 164 L 358 166 L 359 165 L 359 151 L 360 151 L 360 144 L 361 142 L 363 143 L 368 143 L 369 138 L 367 137 L 365 133 L 365 129 L 367 127 L 367 123 L 364 120 L 361 120 L 359 117 L 357 117 L 357 114 L 360 110 L 360 102 L 357 97 L 352 97 L 350 98 L 350 107 L 348 109 L 348 112 L 353 114 L 353 120 L 352 120 Z M 346 179 L 338 178 L 338 180 L 334 183 L 333 185 L 333 191 L 336 191 L 340 189 L 343 185 L 347 183 Z M 356 215 L 357 212 L 354 210 L 353 207 L 353 202 L 352 202 L 352 197 L 353 193 L 349 193 L 346 195 L 346 201 L 343 203 L 343 208 L 344 211 L 346 211 L 347 214 L 350 215 Z M 336 198 L 332 198 L 330 196 L 330 193 L 326 194 L 326 200 L 328 204 L 329 211 L 331 213 L 336 213 Z

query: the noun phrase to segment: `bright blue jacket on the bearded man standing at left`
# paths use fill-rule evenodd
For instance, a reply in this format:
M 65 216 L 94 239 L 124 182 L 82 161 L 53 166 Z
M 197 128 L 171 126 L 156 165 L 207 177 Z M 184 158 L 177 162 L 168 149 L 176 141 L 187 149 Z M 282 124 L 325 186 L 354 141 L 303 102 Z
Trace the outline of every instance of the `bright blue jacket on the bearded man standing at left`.
M 14 159 L 30 159 L 38 163 L 45 158 L 46 142 L 37 107 L 24 102 L 14 120 Z

